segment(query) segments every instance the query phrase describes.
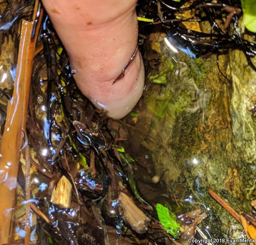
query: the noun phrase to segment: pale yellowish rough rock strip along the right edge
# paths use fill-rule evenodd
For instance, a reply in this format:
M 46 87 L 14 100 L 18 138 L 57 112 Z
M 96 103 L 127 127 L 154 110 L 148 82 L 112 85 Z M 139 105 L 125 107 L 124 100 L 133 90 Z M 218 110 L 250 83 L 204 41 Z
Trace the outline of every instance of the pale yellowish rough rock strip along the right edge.
M 247 64 L 242 51 L 229 52 L 228 73 L 232 80 L 230 116 L 234 146 L 245 161 L 256 159 L 254 107 L 256 103 L 256 73 Z

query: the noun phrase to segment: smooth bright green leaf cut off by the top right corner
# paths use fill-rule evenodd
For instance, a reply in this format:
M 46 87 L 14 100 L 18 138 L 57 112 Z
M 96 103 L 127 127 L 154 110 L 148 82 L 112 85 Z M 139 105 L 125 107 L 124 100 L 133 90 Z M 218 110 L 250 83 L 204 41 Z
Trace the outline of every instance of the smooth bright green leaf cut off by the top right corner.
M 256 32 L 256 1 L 241 0 L 241 4 L 244 12 L 245 27 L 251 32 Z

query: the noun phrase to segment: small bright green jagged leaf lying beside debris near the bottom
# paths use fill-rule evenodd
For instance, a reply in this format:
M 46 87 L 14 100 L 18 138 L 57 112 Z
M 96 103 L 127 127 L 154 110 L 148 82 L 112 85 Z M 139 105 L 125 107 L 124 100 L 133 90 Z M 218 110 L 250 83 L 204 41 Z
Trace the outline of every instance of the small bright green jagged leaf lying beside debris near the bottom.
M 170 233 L 174 238 L 178 238 L 178 231 L 180 229 L 180 224 L 176 222 L 176 216 L 170 213 L 169 209 L 164 207 L 162 204 L 156 204 L 157 216 L 164 227 L 164 229 Z

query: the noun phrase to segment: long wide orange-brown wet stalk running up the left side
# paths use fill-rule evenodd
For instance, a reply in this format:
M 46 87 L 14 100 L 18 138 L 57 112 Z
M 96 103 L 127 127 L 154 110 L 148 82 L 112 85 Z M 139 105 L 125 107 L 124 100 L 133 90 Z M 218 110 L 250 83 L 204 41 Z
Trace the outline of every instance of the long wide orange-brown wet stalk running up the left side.
M 37 8 L 38 0 L 35 3 L 34 21 Z M 23 20 L 21 25 L 17 74 L 13 96 L 7 105 L 4 134 L 0 143 L 0 244 L 12 243 L 12 217 L 15 207 L 22 131 L 26 130 L 32 63 L 41 18 L 42 14 L 38 21 L 35 38 L 32 40 L 34 21 Z

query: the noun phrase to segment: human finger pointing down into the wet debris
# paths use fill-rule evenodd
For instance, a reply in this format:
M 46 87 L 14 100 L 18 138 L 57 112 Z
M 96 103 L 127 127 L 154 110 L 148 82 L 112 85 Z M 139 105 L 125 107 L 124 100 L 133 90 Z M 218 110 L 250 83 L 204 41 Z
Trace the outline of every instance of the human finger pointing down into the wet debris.
M 114 84 L 137 45 L 137 0 L 42 0 L 76 70 L 78 88 L 95 107 L 120 119 L 144 88 L 140 52 Z

